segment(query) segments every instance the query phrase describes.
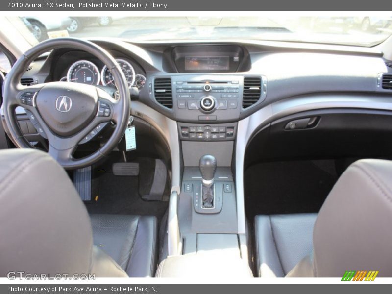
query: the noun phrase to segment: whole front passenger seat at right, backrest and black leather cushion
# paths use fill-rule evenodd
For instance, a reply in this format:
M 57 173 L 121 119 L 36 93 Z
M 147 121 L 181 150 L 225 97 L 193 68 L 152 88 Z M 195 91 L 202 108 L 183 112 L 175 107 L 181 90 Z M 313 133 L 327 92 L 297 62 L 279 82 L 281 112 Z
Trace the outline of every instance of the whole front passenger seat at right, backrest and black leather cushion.
M 306 183 L 304 183 L 306 185 Z M 261 277 L 392 276 L 392 161 L 353 163 L 317 214 L 256 216 Z

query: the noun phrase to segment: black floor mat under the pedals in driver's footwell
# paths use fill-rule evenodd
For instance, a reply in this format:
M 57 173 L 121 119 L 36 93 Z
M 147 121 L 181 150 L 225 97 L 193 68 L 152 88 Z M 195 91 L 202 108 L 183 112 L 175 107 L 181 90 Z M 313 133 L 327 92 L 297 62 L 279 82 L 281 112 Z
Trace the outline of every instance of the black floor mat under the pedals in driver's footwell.
M 152 215 L 161 221 L 168 202 L 144 201 L 138 192 L 137 176 L 115 176 L 112 163 L 93 169 L 92 199 L 89 213 Z M 98 196 L 98 200 L 94 201 Z

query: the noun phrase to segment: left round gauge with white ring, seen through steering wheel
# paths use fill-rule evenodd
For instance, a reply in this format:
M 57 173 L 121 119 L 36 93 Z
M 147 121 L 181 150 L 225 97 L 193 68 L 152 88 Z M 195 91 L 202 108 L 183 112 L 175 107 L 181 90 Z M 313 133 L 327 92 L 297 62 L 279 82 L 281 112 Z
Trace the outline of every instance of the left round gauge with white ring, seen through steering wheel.
M 67 81 L 89 85 L 99 84 L 98 67 L 87 60 L 76 61 L 68 70 Z

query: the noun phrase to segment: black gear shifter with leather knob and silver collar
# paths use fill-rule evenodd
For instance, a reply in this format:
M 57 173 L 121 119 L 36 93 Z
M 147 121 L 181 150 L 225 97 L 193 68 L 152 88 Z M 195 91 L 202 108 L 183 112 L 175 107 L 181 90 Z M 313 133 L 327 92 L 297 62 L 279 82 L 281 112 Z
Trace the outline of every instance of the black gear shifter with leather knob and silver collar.
M 217 170 L 217 160 L 212 155 L 203 155 L 200 157 L 199 169 L 203 178 L 201 188 L 202 208 L 214 207 L 214 174 Z

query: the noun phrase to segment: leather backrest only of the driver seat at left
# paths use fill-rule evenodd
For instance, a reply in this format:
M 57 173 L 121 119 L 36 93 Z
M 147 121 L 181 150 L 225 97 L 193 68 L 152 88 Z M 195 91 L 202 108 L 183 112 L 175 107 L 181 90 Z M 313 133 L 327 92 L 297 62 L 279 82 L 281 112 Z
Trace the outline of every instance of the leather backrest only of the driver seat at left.
M 33 149 L 0 151 L 0 276 L 89 273 L 90 218 L 64 169 Z

